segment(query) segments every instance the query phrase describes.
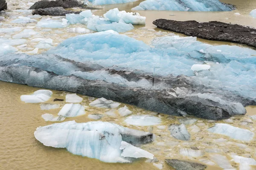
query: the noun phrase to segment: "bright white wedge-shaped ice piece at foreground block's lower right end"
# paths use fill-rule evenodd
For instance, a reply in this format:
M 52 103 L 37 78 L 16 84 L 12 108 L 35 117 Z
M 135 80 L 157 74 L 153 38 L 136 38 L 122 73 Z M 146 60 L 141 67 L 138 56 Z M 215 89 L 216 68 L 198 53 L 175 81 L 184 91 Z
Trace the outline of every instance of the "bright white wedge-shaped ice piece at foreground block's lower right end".
M 122 150 L 121 156 L 123 157 L 154 159 L 154 155 L 152 153 L 124 141 L 121 142 L 120 149 Z

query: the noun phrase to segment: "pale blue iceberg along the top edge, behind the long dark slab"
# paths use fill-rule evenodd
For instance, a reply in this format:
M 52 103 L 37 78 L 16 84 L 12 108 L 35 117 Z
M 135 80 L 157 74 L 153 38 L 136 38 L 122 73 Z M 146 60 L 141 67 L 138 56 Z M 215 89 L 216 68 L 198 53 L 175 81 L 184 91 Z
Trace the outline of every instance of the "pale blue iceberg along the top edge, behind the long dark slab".
M 145 0 L 132 10 L 232 11 L 234 7 L 219 0 Z

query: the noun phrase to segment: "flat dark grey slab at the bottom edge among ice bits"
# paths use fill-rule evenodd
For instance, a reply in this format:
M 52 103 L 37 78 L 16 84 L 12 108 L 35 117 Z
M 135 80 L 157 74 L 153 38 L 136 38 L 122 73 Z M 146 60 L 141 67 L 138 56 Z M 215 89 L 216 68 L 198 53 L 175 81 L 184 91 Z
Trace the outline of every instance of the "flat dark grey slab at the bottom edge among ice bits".
M 166 164 L 173 167 L 175 170 L 204 170 L 207 168 L 204 164 L 199 164 L 190 161 L 182 161 L 178 159 L 166 159 Z

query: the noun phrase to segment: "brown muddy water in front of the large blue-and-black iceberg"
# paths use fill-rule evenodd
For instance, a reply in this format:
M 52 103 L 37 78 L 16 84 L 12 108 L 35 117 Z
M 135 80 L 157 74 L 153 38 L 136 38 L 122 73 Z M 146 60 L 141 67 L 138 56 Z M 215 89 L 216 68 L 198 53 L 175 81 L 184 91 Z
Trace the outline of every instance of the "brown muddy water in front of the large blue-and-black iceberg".
M 104 163 L 96 159 L 89 159 L 87 157 L 77 156 L 69 153 L 66 149 L 46 147 L 40 142 L 38 142 L 34 137 L 34 131 L 38 126 L 45 126 L 52 124 L 52 122 L 45 122 L 41 115 L 44 113 L 51 113 L 57 116 L 58 109 L 52 109 L 48 111 L 43 111 L 40 109 L 40 104 L 38 103 L 24 103 L 20 101 L 20 95 L 31 94 L 32 92 L 38 90 L 39 88 L 32 88 L 26 85 L 17 85 L 13 83 L 0 82 L 0 169 L 1 170 L 156 170 L 151 163 L 146 163 L 145 159 L 140 159 L 132 164 L 119 164 L 119 163 Z M 67 92 L 63 91 L 53 91 L 52 98 L 47 101 L 47 103 L 58 103 L 61 106 L 65 102 L 53 102 L 53 99 L 60 98 L 65 99 Z M 81 96 L 81 95 L 80 95 Z M 75 118 L 67 118 L 65 121 L 75 120 L 76 122 L 88 122 L 93 121 L 87 117 L 90 113 L 102 113 L 108 109 L 102 108 L 91 108 L 88 107 L 90 101 L 87 96 L 81 96 L 84 106 L 87 106 L 86 115 L 78 116 Z M 123 107 L 121 104 L 120 107 Z M 162 119 L 162 125 L 166 126 L 166 129 L 159 130 L 157 126 L 153 127 L 153 133 L 157 136 L 155 141 L 150 144 L 145 144 L 142 146 L 144 150 L 153 153 L 157 159 L 158 163 L 164 165 L 163 169 L 169 169 L 166 164 L 164 164 L 164 159 L 186 159 L 196 162 L 202 157 L 192 158 L 181 156 L 179 154 L 179 148 L 189 148 L 198 147 L 200 150 L 205 148 L 219 148 L 220 154 L 227 156 L 231 159 L 229 153 L 236 153 L 240 156 L 255 156 L 255 146 L 256 142 L 242 143 L 241 141 L 236 141 L 228 138 L 227 136 L 221 136 L 216 134 L 209 134 L 206 130 L 214 125 L 214 122 L 207 121 L 204 119 L 198 119 L 195 123 L 201 129 L 199 133 L 191 133 L 192 138 L 189 142 L 179 141 L 172 138 L 167 130 L 167 127 L 171 123 L 178 123 L 180 117 L 174 117 L 174 119 L 169 120 L 168 115 L 156 114 L 150 111 L 143 110 L 131 105 L 127 105 L 128 108 L 133 111 L 133 114 L 153 114 Z M 248 110 L 249 111 L 249 110 Z M 256 108 L 252 108 L 251 111 L 255 112 Z M 248 116 L 236 116 L 233 117 L 233 126 L 238 126 L 244 129 L 250 129 L 254 131 L 256 128 L 255 122 L 250 123 L 250 125 L 239 125 L 244 119 L 248 119 Z M 137 127 L 132 125 L 127 125 L 124 122 L 123 117 L 111 118 L 105 115 L 102 121 L 113 122 L 125 127 L 134 128 L 138 130 L 147 131 L 148 127 Z M 226 123 L 224 121 L 219 121 Z M 200 124 L 200 125 L 199 125 Z M 202 124 L 202 125 L 201 125 Z M 190 131 L 192 125 L 186 125 Z M 216 139 L 224 138 L 227 139 L 228 146 L 225 142 L 214 142 Z M 160 143 L 159 143 L 160 142 Z M 246 144 L 246 149 L 239 148 L 236 143 Z M 209 153 L 205 153 L 203 158 L 208 158 Z M 233 163 L 234 167 L 238 166 Z M 208 166 L 207 170 L 221 170 L 218 165 Z

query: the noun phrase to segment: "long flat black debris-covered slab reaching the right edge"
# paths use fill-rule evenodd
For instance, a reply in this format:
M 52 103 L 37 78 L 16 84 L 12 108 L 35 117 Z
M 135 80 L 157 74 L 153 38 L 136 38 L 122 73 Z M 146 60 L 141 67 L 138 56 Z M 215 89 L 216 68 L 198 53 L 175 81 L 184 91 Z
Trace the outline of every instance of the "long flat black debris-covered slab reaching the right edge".
M 175 21 L 158 19 L 153 22 L 158 28 L 175 31 L 206 40 L 228 41 L 256 47 L 256 29 L 217 21 Z

